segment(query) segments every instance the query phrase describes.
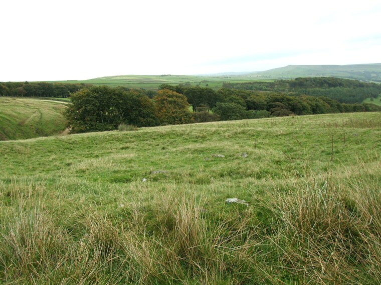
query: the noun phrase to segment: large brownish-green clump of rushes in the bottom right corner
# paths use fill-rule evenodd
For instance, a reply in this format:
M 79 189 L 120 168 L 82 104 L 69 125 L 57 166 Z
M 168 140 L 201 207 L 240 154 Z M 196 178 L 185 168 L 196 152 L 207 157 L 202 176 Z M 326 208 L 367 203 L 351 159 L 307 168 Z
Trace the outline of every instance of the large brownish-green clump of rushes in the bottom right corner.
M 272 195 L 280 227 L 274 243 L 284 270 L 321 284 L 381 280 L 381 188 L 362 186 L 344 191 L 309 183 L 291 195 Z

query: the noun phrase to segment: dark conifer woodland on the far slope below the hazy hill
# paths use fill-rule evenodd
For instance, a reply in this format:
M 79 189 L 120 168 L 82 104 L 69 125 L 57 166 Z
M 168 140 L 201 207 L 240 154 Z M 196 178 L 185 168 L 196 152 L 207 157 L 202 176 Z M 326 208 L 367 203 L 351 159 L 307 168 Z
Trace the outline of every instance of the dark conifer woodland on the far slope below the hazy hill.
M 274 82 L 224 83 L 225 88 L 288 92 L 288 95 L 326 96 L 341 103 L 361 103 L 381 94 L 381 84 L 336 77 L 300 77 Z

